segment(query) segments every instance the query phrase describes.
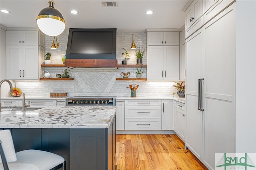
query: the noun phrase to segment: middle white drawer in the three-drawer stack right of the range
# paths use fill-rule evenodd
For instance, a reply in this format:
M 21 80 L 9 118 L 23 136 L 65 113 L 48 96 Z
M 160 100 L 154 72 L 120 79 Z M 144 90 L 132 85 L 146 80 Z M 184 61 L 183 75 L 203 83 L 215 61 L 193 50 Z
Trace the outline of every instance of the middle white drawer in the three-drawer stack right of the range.
M 126 106 L 125 118 L 161 118 L 161 106 Z

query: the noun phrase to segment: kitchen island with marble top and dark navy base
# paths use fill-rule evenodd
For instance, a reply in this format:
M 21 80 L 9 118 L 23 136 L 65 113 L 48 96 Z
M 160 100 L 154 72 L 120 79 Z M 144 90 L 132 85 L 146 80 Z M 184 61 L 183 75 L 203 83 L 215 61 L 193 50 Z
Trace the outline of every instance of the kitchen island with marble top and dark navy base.
M 39 149 L 59 154 L 67 170 L 112 170 L 116 153 L 116 106 L 49 106 L 0 112 L 16 152 Z

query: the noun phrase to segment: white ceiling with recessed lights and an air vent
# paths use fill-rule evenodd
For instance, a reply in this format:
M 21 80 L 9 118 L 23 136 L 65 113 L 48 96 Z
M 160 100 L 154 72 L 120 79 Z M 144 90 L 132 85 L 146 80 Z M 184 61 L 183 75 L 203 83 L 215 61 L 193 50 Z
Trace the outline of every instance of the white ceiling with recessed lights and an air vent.
M 102 0 L 112 2 L 111 0 Z M 146 28 L 181 28 L 185 22 L 182 8 L 187 0 L 113 0 L 117 7 L 103 7 L 100 0 L 54 0 L 66 28 L 117 28 L 119 32 L 144 32 Z M 36 17 L 48 0 L 0 0 L 0 23 L 6 27 L 38 28 Z M 71 14 L 78 10 L 79 14 Z M 147 10 L 154 11 L 146 15 Z

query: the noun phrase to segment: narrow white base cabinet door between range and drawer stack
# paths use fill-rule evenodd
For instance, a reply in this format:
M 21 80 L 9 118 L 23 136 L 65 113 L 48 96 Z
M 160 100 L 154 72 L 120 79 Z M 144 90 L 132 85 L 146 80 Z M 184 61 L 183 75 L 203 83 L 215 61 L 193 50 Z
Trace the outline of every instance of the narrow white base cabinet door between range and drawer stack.
M 124 130 L 124 100 L 116 100 L 116 130 Z

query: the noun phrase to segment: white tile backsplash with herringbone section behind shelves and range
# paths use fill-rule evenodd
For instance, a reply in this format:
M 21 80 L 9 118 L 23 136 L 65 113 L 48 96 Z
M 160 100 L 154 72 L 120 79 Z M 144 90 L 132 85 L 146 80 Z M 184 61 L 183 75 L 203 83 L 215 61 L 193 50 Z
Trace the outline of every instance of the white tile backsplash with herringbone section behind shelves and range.
M 52 37 L 45 37 L 45 53 L 52 54 L 52 64 L 62 64 L 62 57 L 66 54 L 66 46 L 68 31 L 58 36 L 60 48 L 56 50 L 50 49 L 52 45 Z M 146 49 L 146 34 L 134 33 L 134 42 L 137 46 Z M 117 35 L 117 59 L 121 64 L 123 60 L 122 47 L 129 49 L 129 57 L 127 64 L 136 64 L 135 51 L 130 49 L 132 43 L 132 33 L 118 33 Z M 146 56 L 143 59 L 146 64 Z M 65 67 L 47 67 L 52 75 L 61 73 Z M 31 97 L 50 97 L 49 92 L 68 92 L 68 96 L 130 96 L 130 89 L 126 88 L 129 84 L 139 84 L 136 91 L 137 96 L 172 96 L 171 92 L 177 90 L 172 87 L 175 83 L 172 81 L 141 81 L 141 80 L 116 80 L 121 78 L 121 72 L 130 72 L 130 78 L 136 77 L 136 68 L 76 68 L 69 69 L 70 76 L 74 80 L 39 80 L 39 81 L 17 81 L 17 87 L 26 96 Z M 142 68 L 144 74 L 142 78 L 146 78 L 146 68 Z M 15 82 L 14 82 L 15 84 Z

